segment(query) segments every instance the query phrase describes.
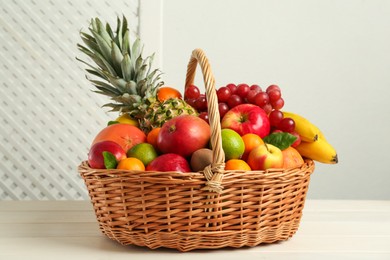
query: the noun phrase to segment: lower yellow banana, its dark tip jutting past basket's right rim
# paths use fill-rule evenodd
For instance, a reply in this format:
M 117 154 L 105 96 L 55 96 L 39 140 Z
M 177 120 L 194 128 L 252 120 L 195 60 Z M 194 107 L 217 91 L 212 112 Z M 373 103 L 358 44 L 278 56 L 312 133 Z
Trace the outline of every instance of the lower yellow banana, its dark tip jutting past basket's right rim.
M 314 142 L 301 142 L 296 149 L 303 157 L 318 162 L 329 164 L 335 164 L 338 162 L 336 150 L 321 137 L 318 137 Z

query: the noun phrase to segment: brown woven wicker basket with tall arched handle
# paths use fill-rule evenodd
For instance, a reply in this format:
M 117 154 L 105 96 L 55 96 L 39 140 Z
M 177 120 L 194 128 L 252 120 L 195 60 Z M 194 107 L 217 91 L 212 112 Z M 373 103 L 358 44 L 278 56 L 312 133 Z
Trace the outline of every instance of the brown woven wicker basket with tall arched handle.
M 199 63 L 208 99 L 213 164 L 202 172 L 133 172 L 79 166 L 101 231 L 123 245 L 180 251 L 256 246 L 298 229 L 314 170 L 225 171 L 214 78 L 204 52 L 192 52 L 186 86 Z

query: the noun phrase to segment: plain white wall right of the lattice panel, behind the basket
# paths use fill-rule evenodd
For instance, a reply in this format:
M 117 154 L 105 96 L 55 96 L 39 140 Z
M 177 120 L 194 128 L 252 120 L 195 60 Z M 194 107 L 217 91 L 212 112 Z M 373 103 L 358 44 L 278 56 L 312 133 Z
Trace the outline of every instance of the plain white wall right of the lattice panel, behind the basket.
M 218 86 L 278 84 L 338 150 L 308 197 L 390 199 L 390 1 L 166 0 L 162 13 L 167 84 L 184 88 L 194 48 Z

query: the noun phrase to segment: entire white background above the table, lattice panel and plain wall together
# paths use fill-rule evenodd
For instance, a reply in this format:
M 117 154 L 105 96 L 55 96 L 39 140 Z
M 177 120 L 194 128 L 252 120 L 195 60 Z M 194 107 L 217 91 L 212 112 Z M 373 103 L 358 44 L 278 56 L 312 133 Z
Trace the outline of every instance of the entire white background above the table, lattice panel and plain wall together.
M 111 118 L 75 44 L 91 17 L 122 13 L 171 86 L 183 90 L 194 48 L 218 86 L 280 85 L 286 110 L 316 123 L 339 153 L 338 165 L 317 164 L 309 198 L 390 199 L 389 1 L 0 3 L 0 199 L 88 198 L 76 168 Z

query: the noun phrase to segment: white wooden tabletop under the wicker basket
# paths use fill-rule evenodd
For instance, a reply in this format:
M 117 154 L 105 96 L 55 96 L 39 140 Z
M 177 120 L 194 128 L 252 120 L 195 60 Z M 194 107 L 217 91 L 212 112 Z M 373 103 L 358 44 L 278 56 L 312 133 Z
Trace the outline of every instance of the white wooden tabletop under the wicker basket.
M 122 246 L 99 231 L 89 201 L 0 202 L 0 259 L 390 259 L 390 201 L 307 201 L 289 240 L 180 253 Z

